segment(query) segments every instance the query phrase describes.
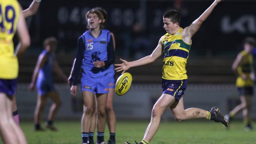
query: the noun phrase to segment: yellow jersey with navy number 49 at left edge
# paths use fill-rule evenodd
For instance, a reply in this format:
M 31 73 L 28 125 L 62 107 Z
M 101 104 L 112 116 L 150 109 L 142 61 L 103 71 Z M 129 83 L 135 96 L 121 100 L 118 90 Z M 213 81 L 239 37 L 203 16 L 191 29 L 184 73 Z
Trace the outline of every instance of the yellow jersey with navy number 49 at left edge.
M 0 78 L 15 79 L 19 65 L 14 55 L 13 36 L 20 16 L 17 0 L 0 0 Z

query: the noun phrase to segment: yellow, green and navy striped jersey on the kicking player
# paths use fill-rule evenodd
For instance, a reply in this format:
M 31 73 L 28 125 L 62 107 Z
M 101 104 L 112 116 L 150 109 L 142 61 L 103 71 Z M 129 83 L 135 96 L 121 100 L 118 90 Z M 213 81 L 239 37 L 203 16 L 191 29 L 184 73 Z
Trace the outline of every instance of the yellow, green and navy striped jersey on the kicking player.
M 183 41 L 181 36 L 182 30 L 181 28 L 174 35 L 166 33 L 163 36 L 163 79 L 187 79 L 186 64 L 191 44 Z

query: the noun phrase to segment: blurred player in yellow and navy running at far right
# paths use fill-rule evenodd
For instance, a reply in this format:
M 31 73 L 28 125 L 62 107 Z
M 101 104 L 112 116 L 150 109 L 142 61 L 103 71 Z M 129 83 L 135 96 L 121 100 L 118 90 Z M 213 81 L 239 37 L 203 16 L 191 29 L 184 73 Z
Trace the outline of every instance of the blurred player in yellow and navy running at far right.
M 241 104 L 237 105 L 229 114 L 225 115 L 225 118 L 230 121 L 237 113 L 243 110 L 243 120 L 245 122 L 245 129 L 252 129 L 252 122 L 250 118 L 252 96 L 253 96 L 253 86 L 255 81 L 254 68 L 253 68 L 253 58 L 252 49 L 254 48 L 256 42 L 252 37 L 247 37 L 243 43 L 243 51 L 240 52 L 236 60 L 232 65 L 232 70 L 234 70 L 238 77 L 236 79 L 236 87 L 241 100 Z

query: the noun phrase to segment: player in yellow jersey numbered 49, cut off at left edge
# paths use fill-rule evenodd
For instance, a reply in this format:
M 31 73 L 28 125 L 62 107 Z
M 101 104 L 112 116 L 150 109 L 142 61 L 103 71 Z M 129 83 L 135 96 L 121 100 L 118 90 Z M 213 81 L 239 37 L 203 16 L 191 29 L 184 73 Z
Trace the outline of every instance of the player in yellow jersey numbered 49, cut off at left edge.
M 24 133 L 11 115 L 17 87 L 19 64 L 14 54 L 13 36 L 17 30 L 20 53 L 30 46 L 30 36 L 22 8 L 16 0 L 0 0 L 0 135 L 5 144 L 26 144 Z M 9 15 L 6 17 L 6 14 Z

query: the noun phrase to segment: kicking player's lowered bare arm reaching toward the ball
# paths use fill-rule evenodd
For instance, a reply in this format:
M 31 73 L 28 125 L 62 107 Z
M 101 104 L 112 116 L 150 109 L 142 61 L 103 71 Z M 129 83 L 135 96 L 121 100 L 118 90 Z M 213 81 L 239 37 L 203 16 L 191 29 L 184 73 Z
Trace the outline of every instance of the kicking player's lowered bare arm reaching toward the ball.
M 161 54 L 163 54 L 163 47 L 162 47 L 162 39 L 163 37 L 160 38 L 159 42 L 158 42 L 158 46 L 156 46 L 155 50 L 152 52 L 151 55 L 148 55 L 146 57 L 143 57 L 137 61 L 126 61 L 126 60 L 123 60 L 123 59 L 120 59 L 123 63 L 122 64 L 115 64 L 115 66 L 119 66 L 117 68 L 115 68 L 115 70 L 117 72 L 122 72 L 122 74 L 128 70 L 129 68 L 131 67 L 134 67 L 134 66 L 140 66 L 140 65 L 146 65 L 148 63 L 152 63 L 154 61 L 156 61 L 156 59 L 158 57 L 161 56 Z

